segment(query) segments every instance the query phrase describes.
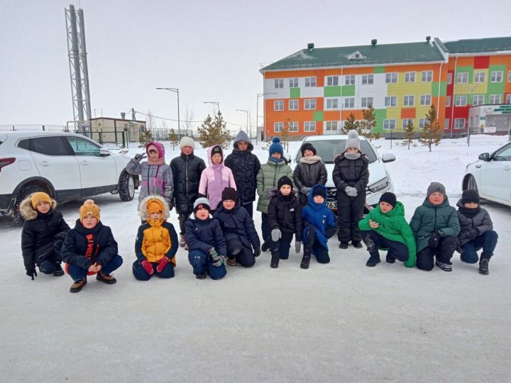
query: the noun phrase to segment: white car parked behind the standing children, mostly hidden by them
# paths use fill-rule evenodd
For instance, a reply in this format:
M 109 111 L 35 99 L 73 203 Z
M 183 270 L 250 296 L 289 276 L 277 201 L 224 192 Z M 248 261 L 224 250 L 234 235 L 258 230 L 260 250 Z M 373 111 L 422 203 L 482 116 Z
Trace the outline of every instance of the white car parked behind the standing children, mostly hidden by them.
M 384 162 L 395 161 L 395 155 L 391 153 L 385 153 L 378 155 L 373 145 L 367 140 L 367 138 L 360 136 L 361 138 L 361 151 L 368 156 L 369 160 L 369 182 L 366 188 L 366 204 L 370 206 L 376 206 L 380 200 L 380 196 L 385 191 L 394 191 L 394 184 L 390 179 L 390 174 L 385 167 Z M 310 136 L 302 140 L 300 147 L 304 143 L 312 143 L 316 148 L 317 155 L 322 157 L 323 162 L 326 165 L 326 171 L 328 172 L 328 181 L 326 182 L 326 189 L 328 195 L 326 196 L 326 205 L 330 209 L 337 210 L 337 189 L 332 180 L 332 172 L 334 172 L 334 160 L 337 155 L 344 152 L 346 149 L 346 140 L 348 135 L 319 135 Z M 302 152 L 300 147 L 297 150 L 295 157 L 292 157 L 291 167 L 294 169 L 296 164 L 300 162 L 302 158 Z

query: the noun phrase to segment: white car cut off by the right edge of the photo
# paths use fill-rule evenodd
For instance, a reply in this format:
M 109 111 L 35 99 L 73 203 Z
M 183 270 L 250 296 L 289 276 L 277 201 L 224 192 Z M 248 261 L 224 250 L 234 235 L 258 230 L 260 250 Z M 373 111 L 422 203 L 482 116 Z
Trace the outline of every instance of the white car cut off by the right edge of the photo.
M 466 165 L 461 187 L 477 190 L 481 198 L 511 206 L 511 143 L 492 154 L 480 154 L 478 161 Z

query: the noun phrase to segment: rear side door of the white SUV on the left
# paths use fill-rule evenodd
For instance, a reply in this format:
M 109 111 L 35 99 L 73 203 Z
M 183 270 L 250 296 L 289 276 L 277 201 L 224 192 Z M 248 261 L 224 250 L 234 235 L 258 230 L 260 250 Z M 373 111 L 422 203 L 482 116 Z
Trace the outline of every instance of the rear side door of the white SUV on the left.
M 32 137 L 29 148 L 40 177 L 48 179 L 53 185 L 57 201 L 80 196 L 82 186 L 78 162 L 62 136 Z

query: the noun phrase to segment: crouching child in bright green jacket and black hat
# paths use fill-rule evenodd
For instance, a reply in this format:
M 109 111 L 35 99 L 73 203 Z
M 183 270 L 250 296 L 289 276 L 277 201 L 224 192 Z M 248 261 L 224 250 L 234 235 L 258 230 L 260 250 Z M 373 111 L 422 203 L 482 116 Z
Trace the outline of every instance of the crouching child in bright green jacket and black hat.
M 378 249 L 388 250 L 387 263 L 394 263 L 397 258 L 406 267 L 415 266 L 414 235 L 405 220 L 405 206 L 397 201 L 395 194 L 383 193 L 378 206 L 358 221 L 358 228 L 369 252 L 367 267 L 380 263 Z

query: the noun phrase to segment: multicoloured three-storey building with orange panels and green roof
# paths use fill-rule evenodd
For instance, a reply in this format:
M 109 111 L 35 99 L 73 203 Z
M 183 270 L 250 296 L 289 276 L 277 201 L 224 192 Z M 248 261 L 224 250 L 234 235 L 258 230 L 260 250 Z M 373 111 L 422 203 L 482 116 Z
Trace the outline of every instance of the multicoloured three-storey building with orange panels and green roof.
M 446 133 L 463 133 L 471 106 L 491 105 L 494 111 L 511 104 L 511 37 L 443 43 L 428 36 L 419 43 L 372 40 L 338 48 L 309 44 L 260 72 L 267 136 L 285 128 L 296 136 L 340 133 L 351 113 L 362 121 L 370 105 L 374 132 L 402 132 L 410 119 L 420 131 L 432 104 Z M 471 126 L 484 128 L 488 113 L 477 117 Z M 505 124 L 505 118 L 498 121 Z

